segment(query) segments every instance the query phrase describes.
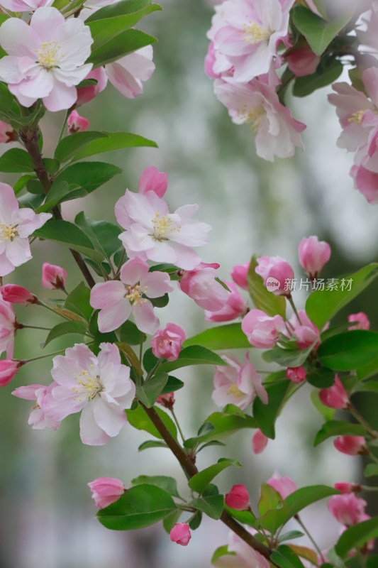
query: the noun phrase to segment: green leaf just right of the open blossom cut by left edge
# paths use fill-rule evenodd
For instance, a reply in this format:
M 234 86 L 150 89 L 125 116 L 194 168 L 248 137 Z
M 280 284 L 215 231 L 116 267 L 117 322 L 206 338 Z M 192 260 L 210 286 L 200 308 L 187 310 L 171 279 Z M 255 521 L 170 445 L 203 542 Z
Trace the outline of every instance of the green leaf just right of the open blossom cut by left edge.
M 33 234 L 40 239 L 47 239 L 68 246 L 69 249 L 83 253 L 96 262 L 101 262 L 104 259 L 101 253 L 94 250 L 87 235 L 79 227 L 68 221 L 50 219 Z

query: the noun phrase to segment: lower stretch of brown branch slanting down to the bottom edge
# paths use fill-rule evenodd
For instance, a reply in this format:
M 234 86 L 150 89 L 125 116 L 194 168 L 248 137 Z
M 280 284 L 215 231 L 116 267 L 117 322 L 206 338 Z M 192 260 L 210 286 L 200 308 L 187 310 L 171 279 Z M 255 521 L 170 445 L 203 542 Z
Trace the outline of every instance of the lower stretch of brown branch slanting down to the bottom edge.
M 184 452 L 184 449 L 182 449 L 182 447 L 174 439 L 174 437 L 169 432 L 169 430 L 167 430 L 167 427 L 165 426 L 164 422 L 162 422 L 155 408 L 147 408 L 140 401 L 139 404 L 150 418 L 156 430 L 160 433 L 160 435 L 162 435 L 167 446 L 174 454 L 174 457 L 176 457 L 177 460 L 179 461 L 179 464 L 180 466 L 182 466 L 182 469 L 184 470 L 184 473 L 187 475 L 188 479 L 198 474 L 199 472 L 198 469 L 193 464 L 188 454 Z M 257 552 L 260 552 L 260 555 L 262 555 L 267 560 L 269 560 L 269 562 L 272 562 L 272 560 L 270 559 L 270 556 L 272 555 L 272 550 L 270 550 L 270 548 L 268 548 L 267 546 L 263 545 L 262 542 L 260 542 L 260 540 L 257 540 L 257 538 L 251 535 L 250 532 L 248 532 L 248 530 L 245 530 L 245 528 L 242 525 L 240 525 L 238 521 L 236 521 L 233 517 L 231 517 L 226 512 L 226 510 L 223 510 L 223 513 L 221 515 L 221 521 L 225 525 L 227 525 L 228 528 L 233 530 L 233 532 L 235 532 L 236 535 L 238 535 L 241 539 L 243 539 L 244 542 L 250 545 L 250 547 L 252 547 L 254 550 L 257 550 Z M 272 564 L 276 566 L 274 562 L 272 562 Z

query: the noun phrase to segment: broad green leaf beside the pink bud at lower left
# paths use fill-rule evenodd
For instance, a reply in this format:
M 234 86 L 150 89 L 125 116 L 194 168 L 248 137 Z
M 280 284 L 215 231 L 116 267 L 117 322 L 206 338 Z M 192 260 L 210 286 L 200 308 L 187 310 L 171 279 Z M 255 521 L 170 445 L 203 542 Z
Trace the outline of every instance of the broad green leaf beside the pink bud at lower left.
M 96 517 L 106 528 L 131 530 L 153 525 L 175 509 L 167 491 L 146 484 L 131 487 L 116 503 L 99 510 Z

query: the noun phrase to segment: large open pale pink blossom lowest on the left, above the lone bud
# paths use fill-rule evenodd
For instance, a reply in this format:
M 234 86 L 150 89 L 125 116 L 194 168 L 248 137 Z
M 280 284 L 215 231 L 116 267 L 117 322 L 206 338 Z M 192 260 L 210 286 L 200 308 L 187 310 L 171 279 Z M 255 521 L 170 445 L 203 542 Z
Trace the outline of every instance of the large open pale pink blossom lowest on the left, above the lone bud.
M 78 413 L 83 444 L 99 446 L 118 435 L 126 424 L 125 408 L 135 396 L 130 368 L 121 364 L 116 345 L 101 343 L 95 356 L 84 344 L 75 344 L 52 359 L 54 382 L 41 404 L 52 420 Z

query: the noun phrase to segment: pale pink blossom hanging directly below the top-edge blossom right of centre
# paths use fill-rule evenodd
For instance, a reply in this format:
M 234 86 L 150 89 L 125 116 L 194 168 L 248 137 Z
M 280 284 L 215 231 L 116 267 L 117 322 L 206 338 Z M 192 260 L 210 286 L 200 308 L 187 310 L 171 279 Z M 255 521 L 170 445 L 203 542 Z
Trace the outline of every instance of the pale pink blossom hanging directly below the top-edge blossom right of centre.
M 231 82 L 226 77 L 214 82 L 216 97 L 223 103 L 235 124 L 249 124 L 256 132 L 256 152 L 264 160 L 289 158 L 295 148 L 303 148 L 300 132 L 306 125 L 291 116 L 279 102 L 275 87 L 260 80 L 247 84 Z

